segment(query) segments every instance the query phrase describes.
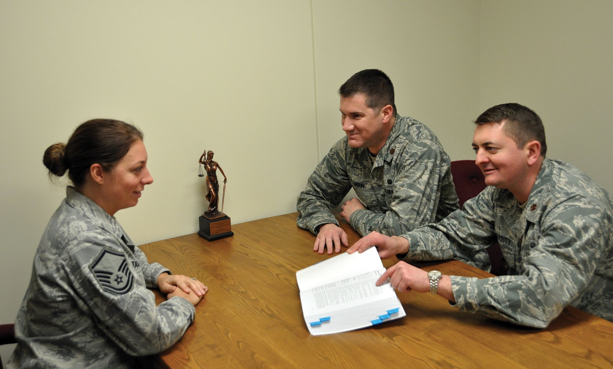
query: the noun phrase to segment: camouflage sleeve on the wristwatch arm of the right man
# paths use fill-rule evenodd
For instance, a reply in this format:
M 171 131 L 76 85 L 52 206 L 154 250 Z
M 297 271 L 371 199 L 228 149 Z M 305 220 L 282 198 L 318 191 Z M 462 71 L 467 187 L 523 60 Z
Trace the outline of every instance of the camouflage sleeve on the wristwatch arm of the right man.
M 522 275 L 452 276 L 455 305 L 514 324 L 544 328 L 592 279 L 606 248 L 606 211 L 581 196 L 558 199 L 522 257 Z M 592 291 L 598 294 L 600 291 Z

